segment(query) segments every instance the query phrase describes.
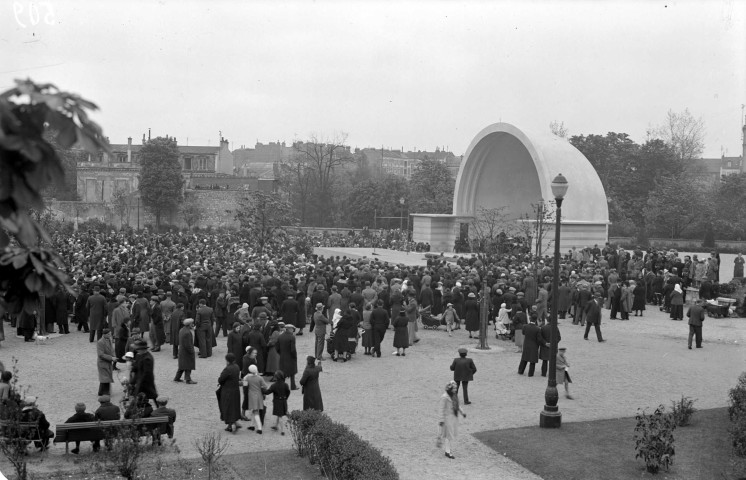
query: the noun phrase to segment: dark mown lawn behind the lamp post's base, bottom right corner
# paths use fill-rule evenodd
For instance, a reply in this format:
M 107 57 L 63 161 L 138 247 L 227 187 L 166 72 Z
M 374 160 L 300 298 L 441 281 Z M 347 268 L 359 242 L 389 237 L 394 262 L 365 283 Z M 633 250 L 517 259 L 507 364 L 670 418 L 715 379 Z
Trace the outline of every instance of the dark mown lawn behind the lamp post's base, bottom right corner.
M 538 418 L 537 418 L 538 423 Z M 651 475 L 635 460 L 635 419 L 563 423 L 480 432 L 485 445 L 545 480 L 746 479 L 746 460 L 733 455 L 726 408 L 699 410 L 691 424 L 674 431 L 676 455 L 668 472 Z

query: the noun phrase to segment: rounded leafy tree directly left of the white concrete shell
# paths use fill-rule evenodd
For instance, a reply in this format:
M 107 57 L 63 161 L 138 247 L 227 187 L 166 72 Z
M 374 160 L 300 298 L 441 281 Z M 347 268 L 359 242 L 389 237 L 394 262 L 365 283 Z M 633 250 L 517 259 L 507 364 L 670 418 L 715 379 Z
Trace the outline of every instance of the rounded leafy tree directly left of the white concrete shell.
M 420 160 L 409 181 L 410 211 L 417 213 L 452 213 L 456 179 L 445 163 Z

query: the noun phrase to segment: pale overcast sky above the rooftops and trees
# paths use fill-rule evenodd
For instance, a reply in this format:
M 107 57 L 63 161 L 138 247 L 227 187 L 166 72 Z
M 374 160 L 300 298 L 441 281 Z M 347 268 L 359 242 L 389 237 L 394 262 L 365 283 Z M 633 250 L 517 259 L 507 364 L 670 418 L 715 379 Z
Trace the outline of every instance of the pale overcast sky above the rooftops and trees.
M 496 122 L 644 142 L 669 110 L 741 153 L 743 1 L 0 2 L 0 90 L 94 101 L 112 143 L 346 139 L 463 154 Z

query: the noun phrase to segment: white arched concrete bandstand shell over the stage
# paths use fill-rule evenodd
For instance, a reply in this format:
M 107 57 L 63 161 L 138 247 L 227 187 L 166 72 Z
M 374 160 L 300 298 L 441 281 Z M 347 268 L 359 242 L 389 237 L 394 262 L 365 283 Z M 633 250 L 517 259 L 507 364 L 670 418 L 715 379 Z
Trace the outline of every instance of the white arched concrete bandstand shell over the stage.
M 562 222 L 607 224 L 606 192 L 588 159 L 567 140 L 495 123 L 474 137 L 456 178 L 453 214 L 472 216 L 477 207 L 507 207 L 509 218 L 531 215 L 531 204 L 553 200 L 552 180 L 570 184 Z

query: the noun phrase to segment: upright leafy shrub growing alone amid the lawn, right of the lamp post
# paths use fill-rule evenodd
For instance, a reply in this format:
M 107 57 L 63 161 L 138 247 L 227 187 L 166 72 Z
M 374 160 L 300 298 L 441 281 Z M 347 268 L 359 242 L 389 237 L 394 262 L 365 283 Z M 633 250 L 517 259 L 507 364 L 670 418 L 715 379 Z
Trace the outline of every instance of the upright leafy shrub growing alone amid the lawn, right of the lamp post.
M 668 471 L 675 454 L 673 431 L 676 421 L 673 415 L 659 405 L 650 415 L 645 410 L 638 410 L 635 419 L 635 458 L 642 458 L 650 473 L 658 473 L 660 467 Z

